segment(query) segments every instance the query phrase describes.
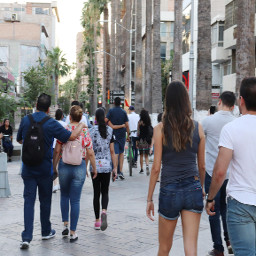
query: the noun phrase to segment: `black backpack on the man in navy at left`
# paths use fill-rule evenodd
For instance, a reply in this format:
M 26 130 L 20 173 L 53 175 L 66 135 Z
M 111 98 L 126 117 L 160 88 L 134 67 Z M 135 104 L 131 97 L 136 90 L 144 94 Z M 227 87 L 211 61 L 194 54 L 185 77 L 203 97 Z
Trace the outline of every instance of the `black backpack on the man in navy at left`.
M 50 119 L 46 116 L 40 122 L 35 122 L 32 115 L 28 115 L 30 126 L 28 128 L 22 147 L 22 162 L 28 166 L 40 165 L 44 159 L 44 131 L 43 124 Z

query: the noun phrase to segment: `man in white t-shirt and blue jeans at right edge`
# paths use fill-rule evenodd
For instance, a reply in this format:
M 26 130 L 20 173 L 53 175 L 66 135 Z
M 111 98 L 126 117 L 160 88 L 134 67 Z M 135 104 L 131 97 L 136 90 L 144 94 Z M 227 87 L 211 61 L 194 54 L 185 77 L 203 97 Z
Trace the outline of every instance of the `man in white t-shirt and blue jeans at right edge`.
M 221 131 L 219 155 L 206 203 L 210 216 L 214 198 L 221 188 L 227 169 L 227 225 L 236 256 L 256 255 L 256 77 L 245 78 L 240 87 L 242 117 Z

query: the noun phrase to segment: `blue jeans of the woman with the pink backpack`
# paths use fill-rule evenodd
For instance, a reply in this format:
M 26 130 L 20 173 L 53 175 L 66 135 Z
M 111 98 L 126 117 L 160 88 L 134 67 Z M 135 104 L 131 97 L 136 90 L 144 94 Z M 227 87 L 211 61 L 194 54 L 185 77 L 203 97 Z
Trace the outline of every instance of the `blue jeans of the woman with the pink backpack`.
M 70 211 L 70 229 L 76 231 L 76 226 L 80 212 L 80 198 L 82 188 L 86 177 L 85 160 L 81 165 L 69 165 L 59 162 L 59 182 L 60 182 L 60 207 L 62 221 L 69 221 L 69 203 Z

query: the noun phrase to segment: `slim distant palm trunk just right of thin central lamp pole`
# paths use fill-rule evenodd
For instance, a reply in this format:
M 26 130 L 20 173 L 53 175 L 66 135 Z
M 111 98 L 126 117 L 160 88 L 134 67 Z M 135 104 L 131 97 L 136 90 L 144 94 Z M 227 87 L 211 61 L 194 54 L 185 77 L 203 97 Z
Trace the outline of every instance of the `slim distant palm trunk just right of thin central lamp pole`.
M 142 109 L 142 3 L 136 2 L 136 71 L 135 71 L 135 110 Z

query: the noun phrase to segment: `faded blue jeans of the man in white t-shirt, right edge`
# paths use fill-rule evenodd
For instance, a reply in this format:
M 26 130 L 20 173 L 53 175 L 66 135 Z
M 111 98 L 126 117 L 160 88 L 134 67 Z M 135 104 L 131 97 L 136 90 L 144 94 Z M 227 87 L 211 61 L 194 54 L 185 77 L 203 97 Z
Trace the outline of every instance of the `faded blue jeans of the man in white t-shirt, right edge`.
M 227 224 L 235 256 L 255 256 L 256 206 L 228 197 Z

